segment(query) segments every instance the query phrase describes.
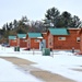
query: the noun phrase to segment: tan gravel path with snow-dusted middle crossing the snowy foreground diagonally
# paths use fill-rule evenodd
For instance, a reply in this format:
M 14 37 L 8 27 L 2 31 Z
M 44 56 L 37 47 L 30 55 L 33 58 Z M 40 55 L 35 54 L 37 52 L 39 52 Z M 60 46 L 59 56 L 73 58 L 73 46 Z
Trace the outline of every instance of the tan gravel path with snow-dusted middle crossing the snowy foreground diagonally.
M 16 58 L 16 57 L 0 57 L 0 58 L 16 65 L 19 70 L 30 72 L 31 74 L 38 78 L 39 80 L 43 80 L 43 82 L 75 82 L 73 80 L 67 79 L 67 78 L 61 77 L 59 74 L 51 73 L 49 71 L 35 68 L 31 65 L 36 65 L 36 63 L 32 62 L 30 60 Z

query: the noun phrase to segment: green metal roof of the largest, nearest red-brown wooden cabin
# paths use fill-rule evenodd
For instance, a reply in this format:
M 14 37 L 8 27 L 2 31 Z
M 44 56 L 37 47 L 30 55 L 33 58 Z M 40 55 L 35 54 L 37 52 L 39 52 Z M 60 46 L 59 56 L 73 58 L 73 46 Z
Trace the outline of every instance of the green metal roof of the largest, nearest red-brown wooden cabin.
M 67 28 L 49 28 L 51 35 L 69 35 Z

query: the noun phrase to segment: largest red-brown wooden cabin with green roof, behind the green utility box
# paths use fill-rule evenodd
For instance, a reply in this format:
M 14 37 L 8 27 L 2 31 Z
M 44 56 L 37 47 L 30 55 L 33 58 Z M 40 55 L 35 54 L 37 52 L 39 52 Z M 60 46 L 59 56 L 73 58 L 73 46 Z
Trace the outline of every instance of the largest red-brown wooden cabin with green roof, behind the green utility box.
M 80 49 L 80 28 L 48 28 L 46 45 L 50 49 Z

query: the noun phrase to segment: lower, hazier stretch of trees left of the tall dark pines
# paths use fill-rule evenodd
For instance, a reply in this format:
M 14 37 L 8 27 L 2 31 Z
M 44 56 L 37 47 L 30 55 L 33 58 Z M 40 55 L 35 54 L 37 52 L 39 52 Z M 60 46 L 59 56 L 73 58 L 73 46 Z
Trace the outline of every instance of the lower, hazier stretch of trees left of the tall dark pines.
M 30 21 L 26 16 L 22 16 L 21 20 L 14 20 L 7 23 L 0 30 L 0 43 L 8 42 L 9 35 L 26 34 L 27 32 L 43 32 L 44 23 L 42 21 Z

